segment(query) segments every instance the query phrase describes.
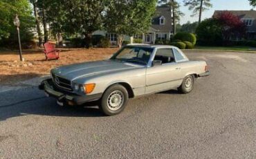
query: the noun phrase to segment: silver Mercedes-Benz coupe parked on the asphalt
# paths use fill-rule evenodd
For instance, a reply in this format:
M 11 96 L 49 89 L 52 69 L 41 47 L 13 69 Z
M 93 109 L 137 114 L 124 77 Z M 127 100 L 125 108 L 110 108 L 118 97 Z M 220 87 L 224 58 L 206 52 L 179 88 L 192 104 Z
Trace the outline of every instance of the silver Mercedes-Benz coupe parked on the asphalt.
M 195 79 L 208 75 L 206 62 L 190 61 L 175 46 L 133 44 L 107 60 L 54 68 L 39 88 L 61 106 L 99 101 L 105 115 L 116 115 L 131 97 L 174 88 L 190 93 Z

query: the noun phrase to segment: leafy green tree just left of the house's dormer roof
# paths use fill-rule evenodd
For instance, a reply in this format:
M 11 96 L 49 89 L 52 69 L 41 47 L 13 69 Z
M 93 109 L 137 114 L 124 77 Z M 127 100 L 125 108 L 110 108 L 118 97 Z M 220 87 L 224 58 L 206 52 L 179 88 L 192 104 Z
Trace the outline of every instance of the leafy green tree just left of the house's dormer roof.
M 108 32 L 118 35 L 118 46 L 120 47 L 124 35 L 141 34 L 149 29 L 155 10 L 156 0 L 111 0 L 107 8 L 104 26 Z

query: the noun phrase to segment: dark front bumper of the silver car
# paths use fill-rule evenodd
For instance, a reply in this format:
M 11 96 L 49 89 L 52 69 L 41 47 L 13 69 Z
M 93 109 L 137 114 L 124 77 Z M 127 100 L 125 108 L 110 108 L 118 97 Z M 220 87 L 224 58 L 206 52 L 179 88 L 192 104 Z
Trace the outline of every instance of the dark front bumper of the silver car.
M 102 97 L 102 93 L 94 95 L 77 95 L 74 93 L 61 91 L 60 89 L 55 88 L 52 79 L 46 79 L 42 81 L 42 83 L 39 85 L 39 89 L 44 90 L 51 97 L 55 97 L 59 102 L 73 105 L 81 105 L 86 102 L 99 100 L 100 97 Z

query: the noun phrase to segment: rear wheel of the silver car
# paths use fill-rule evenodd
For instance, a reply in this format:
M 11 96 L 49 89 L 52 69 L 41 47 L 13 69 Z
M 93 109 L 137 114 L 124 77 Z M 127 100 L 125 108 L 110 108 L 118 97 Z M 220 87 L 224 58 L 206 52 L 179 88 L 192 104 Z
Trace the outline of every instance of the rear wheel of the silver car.
M 183 94 L 190 93 L 194 88 L 194 75 L 188 75 L 183 79 L 178 91 Z

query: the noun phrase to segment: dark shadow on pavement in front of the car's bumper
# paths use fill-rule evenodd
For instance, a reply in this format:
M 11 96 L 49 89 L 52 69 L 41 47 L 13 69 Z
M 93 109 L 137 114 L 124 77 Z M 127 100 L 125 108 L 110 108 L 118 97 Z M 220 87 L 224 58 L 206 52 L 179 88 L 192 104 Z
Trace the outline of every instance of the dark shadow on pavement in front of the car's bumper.
M 39 97 L 37 100 L 0 106 L 0 121 L 24 115 L 60 117 L 104 117 L 96 102 L 86 106 L 58 106 L 55 99 Z

